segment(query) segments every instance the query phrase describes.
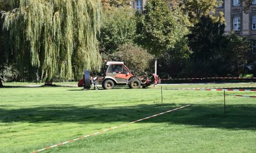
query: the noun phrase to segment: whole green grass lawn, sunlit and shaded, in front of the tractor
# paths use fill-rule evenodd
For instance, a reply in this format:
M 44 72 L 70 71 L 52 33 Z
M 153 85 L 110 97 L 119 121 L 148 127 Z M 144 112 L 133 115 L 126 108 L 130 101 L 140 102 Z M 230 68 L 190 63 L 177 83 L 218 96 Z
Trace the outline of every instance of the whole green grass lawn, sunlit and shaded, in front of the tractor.
M 256 99 L 226 97 L 224 116 L 223 92 L 165 90 L 252 83 L 163 86 L 163 104 L 160 85 L 87 91 L 4 85 L 9 87 L 0 88 L 0 152 L 40 150 L 186 104 L 191 106 L 43 152 L 256 152 Z

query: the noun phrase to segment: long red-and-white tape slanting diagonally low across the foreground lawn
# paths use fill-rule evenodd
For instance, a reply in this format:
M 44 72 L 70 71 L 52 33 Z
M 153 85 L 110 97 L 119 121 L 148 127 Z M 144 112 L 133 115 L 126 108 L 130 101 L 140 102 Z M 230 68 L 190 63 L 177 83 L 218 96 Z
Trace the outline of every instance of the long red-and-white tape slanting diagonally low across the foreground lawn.
M 125 124 L 123 124 L 123 125 L 115 126 L 115 127 L 113 127 L 113 128 L 101 130 L 101 131 L 96 132 L 96 133 L 91 133 L 91 134 L 88 134 L 88 135 L 86 135 L 86 136 L 82 136 L 82 137 L 79 137 L 79 138 L 77 138 L 77 139 L 69 140 L 69 141 L 66 141 L 66 142 L 64 142 L 64 143 L 55 144 L 55 145 L 52 145 L 51 147 L 46 147 L 46 148 L 43 148 L 43 149 L 41 149 L 41 150 L 37 150 L 37 151 L 34 151 L 34 152 L 40 152 L 40 151 L 48 150 L 49 148 L 57 147 L 57 146 L 59 146 L 59 145 L 64 145 L 64 144 L 67 144 L 67 143 L 72 143 L 73 141 L 76 141 L 76 140 L 80 140 L 80 139 L 84 139 L 84 138 L 86 138 L 86 137 L 94 136 L 94 135 L 96 135 L 96 134 L 104 133 L 104 132 L 107 132 L 108 130 L 113 130 L 113 129 L 116 129 L 116 128 L 120 128 L 120 127 L 122 127 L 122 126 L 130 125 L 130 124 L 132 124 L 132 123 L 140 122 L 140 121 L 143 121 L 143 120 L 145 120 L 145 119 L 153 118 L 153 117 L 155 117 L 155 116 L 162 115 L 162 114 L 165 114 L 165 113 L 168 113 L 168 112 L 180 110 L 180 109 L 182 109 L 182 108 L 184 108 L 184 107 L 188 107 L 188 106 L 190 106 L 190 105 L 184 105 L 184 106 L 182 106 L 182 107 L 175 108 L 175 109 L 173 109 L 173 110 L 169 110 L 169 111 L 161 112 L 161 113 L 159 113 L 159 114 L 155 114 L 155 115 L 152 115 L 152 116 L 148 116 L 147 118 L 138 119 L 137 121 L 133 121 L 133 122 L 130 122 L 130 123 L 125 123 Z M 34 153 L 34 152 L 31 152 L 31 153 Z

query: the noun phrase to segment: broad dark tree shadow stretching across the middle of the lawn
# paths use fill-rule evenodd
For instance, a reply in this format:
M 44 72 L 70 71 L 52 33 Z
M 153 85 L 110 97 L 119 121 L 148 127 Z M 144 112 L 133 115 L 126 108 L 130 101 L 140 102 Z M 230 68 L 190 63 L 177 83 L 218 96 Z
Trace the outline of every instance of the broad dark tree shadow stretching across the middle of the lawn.
M 23 108 L 19 110 L 0 109 L 0 122 L 131 122 L 180 106 L 174 103 L 111 108 L 98 108 L 100 105 L 89 105 L 86 107 L 48 105 L 47 107 Z M 141 123 L 165 122 L 207 128 L 256 130 L 256 105 L 227 105 L 226 110 L 227 114 L 224 116 L 223 105 L 221 104 L 194 104 L 181 110 L 146 119 L 141 121 Z

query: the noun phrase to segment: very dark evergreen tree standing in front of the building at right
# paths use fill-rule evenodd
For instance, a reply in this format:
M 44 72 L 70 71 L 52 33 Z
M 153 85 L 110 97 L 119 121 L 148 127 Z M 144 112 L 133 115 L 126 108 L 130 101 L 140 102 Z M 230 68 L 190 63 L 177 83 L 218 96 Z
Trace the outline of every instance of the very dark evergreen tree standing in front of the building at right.
M 200 17 L 198 23 L 190 28 L 191 33 L 187 37 L 192 54 L 182 75 L 208 77 L 225 71 L 225 68 L 218 67 L 218 64 L 223 66 L 224 61 L 222 53 L 224 28 L 225 25 L 221 21 L 216 23 L 210 16 Z

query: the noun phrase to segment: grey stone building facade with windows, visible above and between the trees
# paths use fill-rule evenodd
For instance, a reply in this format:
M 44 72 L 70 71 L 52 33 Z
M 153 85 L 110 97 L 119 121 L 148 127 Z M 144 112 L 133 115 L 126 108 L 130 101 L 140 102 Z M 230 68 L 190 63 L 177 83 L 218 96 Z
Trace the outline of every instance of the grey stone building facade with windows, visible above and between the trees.
M 236 34 L 256 39 L 256 0 L 253 0 L 248 13 L 243 12 L 240 0 L 218 0 L 222 5 L 216 9 L 225 15 L 225 32 L 234 31 Z M 143 10 L 146 0 L 134 0 L 134 9 Z

